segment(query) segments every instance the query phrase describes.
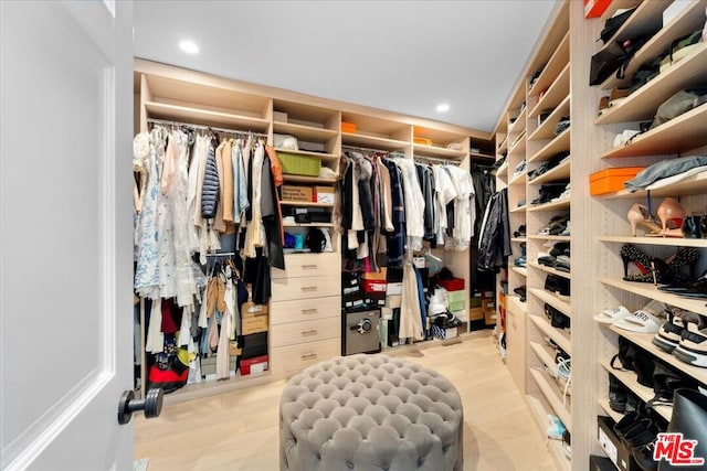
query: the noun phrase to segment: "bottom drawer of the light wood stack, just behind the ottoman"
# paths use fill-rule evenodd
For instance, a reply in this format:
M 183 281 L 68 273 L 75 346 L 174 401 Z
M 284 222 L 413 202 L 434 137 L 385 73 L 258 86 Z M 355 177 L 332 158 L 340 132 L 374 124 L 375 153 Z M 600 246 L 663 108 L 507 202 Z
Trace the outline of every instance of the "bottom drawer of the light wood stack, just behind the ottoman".
M 341 341 L 338 338 L 271 347 L 270 370 L 273 374 L 299 373 L 309 365 L 340 355 Z

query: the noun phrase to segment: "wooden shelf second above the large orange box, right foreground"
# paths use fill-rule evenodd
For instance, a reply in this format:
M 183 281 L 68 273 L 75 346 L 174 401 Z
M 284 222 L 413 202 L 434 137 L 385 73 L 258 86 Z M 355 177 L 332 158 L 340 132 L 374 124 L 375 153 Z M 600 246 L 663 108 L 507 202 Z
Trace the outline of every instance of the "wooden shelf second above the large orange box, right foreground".
M 626 97 L 621 105 L 609 108 L 597 118 L 595 124 L 653 120 L 658 106 L 676 92 L 707 82 L 706 63 L 707 43 L 701 43 L 697 51 L 659 73 L 657 77 Z

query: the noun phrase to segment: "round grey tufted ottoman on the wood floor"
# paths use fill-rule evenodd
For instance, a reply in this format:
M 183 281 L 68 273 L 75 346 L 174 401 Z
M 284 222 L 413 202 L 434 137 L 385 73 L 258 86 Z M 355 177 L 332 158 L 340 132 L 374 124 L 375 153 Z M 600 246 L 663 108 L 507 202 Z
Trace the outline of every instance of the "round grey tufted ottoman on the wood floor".
M 386 355 L 309 366 L 283 389 L 279 469 L 461 470 L 464 419 L 446 378 Z

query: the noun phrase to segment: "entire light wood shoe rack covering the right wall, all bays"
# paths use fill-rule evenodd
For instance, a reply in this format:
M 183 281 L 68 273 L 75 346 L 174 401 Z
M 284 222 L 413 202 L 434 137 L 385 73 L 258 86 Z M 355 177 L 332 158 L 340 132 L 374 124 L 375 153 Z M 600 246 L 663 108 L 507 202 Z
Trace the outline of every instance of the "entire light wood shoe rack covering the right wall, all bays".
M 707 49 L 697 50 L 662 71 L 620 105 L 598 116 L 601 97 L 609 96 L 615 86 L 629 85 L 637 67 L 669 47 L 674 39 L 705 24 L 707 1 L 688 2 L 665 24 L 637 52 L 624 82 L 612 76 L 599 86 L 589 86 L 591 56 L 602 47 L 597 39 L 605 19 L 616 9 L 636 7 L 632 18 L 610 41 L 631 38 L 641 34 L 646 25 L 656 22 L 662 24 L 663 10 L 671 3 L 614 1 L 602 18 L 585 19 L 582 2 L 566 1 L 557 9 L 530 55 L 519 79 L 520 85 L 509 98 L 497 126 L 497 158 L 507 157 L 497 172 L 498 184 L 508 188 L 511 231 L 525 224 L 527 234 L 525 238 L 511 239 L 514 254 L 508 258 L 507 272 L 503 274 L 508 281 L 506 363 L 511 374 L 516 375 L 514 365 L 525 357 L 525 378 L 519 375 L 516 382 L 526 394 L 530 408 L 536 411 L 540 433 L 546 435 L 548 414 L 558 416 L 571 432 L 571 459 L 566 458 L 561 442 L 548 441 L 548 449 L 559 469 L 587 469 L 590 454 L 603 454 L 597 440 L 597 416 L 612 416 L 614 420 L 621 418 L 611 410 L 608 400 L 609 363 L 618 352 L 619 335 L 669 366 L 707 384 L 707 368 L 688 365 L 654 346 L 653 334 L 605 327 L 593 320 L 593 315 L 604 309 L 625 306 L 635 311 L 652 299 L 707 315 L 706 300 L 680 298 L 659 291 L 648 282 L 624 281 L 620 256 L 624 244 L 634 244 L 646 254 L 663 259 L 680 247 L 694 247 L 701 254 L 694 267 L 694 274 L 698 275 L 707 268 L 707 238 L 645 237 L 641 233 L 634 237 L 626 214 L 634 203 L 647 205 L 646 192 L 619 191 L 602 196 L 590 195 L 591 173 L 615 167 L 647 167 L 662 159 L 705 154 L 707 151 L 707 105 L 639 136 L 629 146 L 613 147 L 615 135 L 624 129 L 637 129 L 640 121 L 652 120 L 657 107 L 675 92 L 707 83 L 707 69 L 704 67 Z M 536 74 L 538 71 L 542 72 Z M 570 118 L 571 126 L 556 133 L 557 121 L 566 117 Z M 525 122 L 518 119 L 525 119 Z M 518 140 L 521 132 L 525 132 L 523 140 Z M 514 169 L 523 159 L 526 159 L 526 172 L 531 172 L 541 162 L 564 150 L 570 151 L 570 158 L 542 175 L 531 180 L 525 174 L 514 175 Z M 540 185 L 566 180 L 571 182 L 569 199 L 537 206 L 531 204 L 538 196 Z M 652 191 L 650 206 L 654 215 L 665 197 L 678 200 L 687 214 L 705 213 L 707 180 L 704 175 L 697 175 Z M 521 200 L 527 202 L 523 208 L 517 205 Z M 540 235 L 540 229 L 549 220 L 562 212 L 570 215 L 571 235 Z M 527 268 L 519 270 L 514 267 L 514 259 L 520 255 L 523 242 L 527 245 Z M 539 251 L 547 251 L 548 243 L 556 242 L 570 243 L 570 274 L 535 261 Z M 569 301 L 545 289 L 548 274 L 570 280 Z M 523 283 L 527 286 L 525 306 L 514 295 L 514 289 Z M 545 303 L 568 315 L 571 329 L 553 328 L 545 315 Z M 515 339 L 510 336 L 514 332 Z M 548 374 L 548 370 L 556 365 L 555 349 L 548 345 L 548 339 L 571 355 L 571 394 L 567 399 L 558 382 Z M 635 373 L 612 371 L 612 374 L 643 400 L 653 397 L 652 389 L 637 383 Z M 661 406 L 656 411 L 669 420 L 669 407 Z

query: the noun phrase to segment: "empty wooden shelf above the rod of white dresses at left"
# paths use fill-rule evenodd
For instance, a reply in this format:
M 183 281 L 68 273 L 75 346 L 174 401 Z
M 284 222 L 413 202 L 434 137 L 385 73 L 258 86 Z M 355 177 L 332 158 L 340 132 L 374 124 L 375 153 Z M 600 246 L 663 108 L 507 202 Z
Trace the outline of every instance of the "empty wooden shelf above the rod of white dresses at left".
M 147 109 L 150 118 L 180 120 L 194 125 L 224 127 L 226 129 L 232 128 L 234 131 L 267 132 L 270 127 L 267 119 L 182 105 L 147 101 L 145 103 L 145 109 Z

